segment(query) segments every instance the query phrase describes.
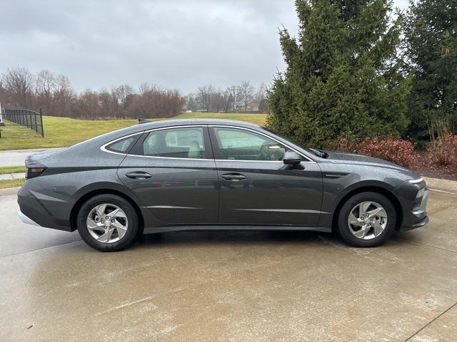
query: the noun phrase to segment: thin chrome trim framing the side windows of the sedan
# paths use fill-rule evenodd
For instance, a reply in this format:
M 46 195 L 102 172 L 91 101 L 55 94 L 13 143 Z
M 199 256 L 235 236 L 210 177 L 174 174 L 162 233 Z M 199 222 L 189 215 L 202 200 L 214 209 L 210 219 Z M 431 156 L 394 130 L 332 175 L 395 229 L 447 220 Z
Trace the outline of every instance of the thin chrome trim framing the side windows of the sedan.
M 293 147 L 281 142 L 280 140 L 278 140 L 276 138 L 271 137 L 270 135 L 267 135 L 267 134 L 262 133 L 262 132 L 258 132 L 258 130 L 253 130 L 251 128 L 244 128 L 244 127 L 240 127 L 240 126 L 231 126 L 231 125 L 178 125 L 178 126 L 167 126 L 167 127 L 160 127 L 160 128 L 152 128 L 151 130 L 142 130 L 141 132 L 136 132 L 136 133 L 132 133 L 132 134 L 129 134 L 129 135 L 124 135 L 124 137 L 116 138 L 114 140 L 111 140 L 110 142 L 106 142 L 106 144 L 104 144 L 104 145 L 102 145 L 100 147 L 100 150 L 102 150 L 104 152 L 108 152 L 108 153 L 113 153 L 114 155 L 124 155 L 124 156 L 130 155 L 132 157 L 144 157 L 144 158 L 154 158 L 154 159 L 202 160 L 202 161 L 211 161 L 211 162 L 280 162 L 281 164 L 283 164 L 282 160 L 236 160 L 236 159 L 231 160 L 231 159 L 156 157 L 156 156 L 152 156 L 152 155 L 132 155 L 132 154 L 129 154 L 129 153 L 114 152 L 114 151 L 110 151 L 110 150 L 106 149 L 106 146 L 111 145 L 112 143 L 117 142 L 119 140 L 122 140 L 122 139 L 125 139 L 125 138 L 129 138 L 129 137 L 132 137 L 134 135 L 154 132 L 156 130 L 171 130 L 171 129 L 174 129 L 174 128 L 205 128 L 205 127 L 224 127 L 224 128 L 235 128 L 235 129 L 238 129 L 238 130 L 248 130 L 248 131 L 251 131 L 253 133 L 257 133 L 259 135 L 263 135 L 264 137 L 266 137 L 268 139 L 271 139 L 271 140 L 274 140 L 274 141 L 278 142 L 281 145 L 285 145 L 286 147 L 290 148 L 294 152 L 298 153 L 298 155 L 301 155 L 301 157 L 304 157 L 304 158 L 307 159 L 307 160 L 302 160 L 303 162 L 315 162 L 314 160 L 311 160 L 311 158 L 309 158 L 308 156 L 303 155 L 303 153 L 298 152 Z

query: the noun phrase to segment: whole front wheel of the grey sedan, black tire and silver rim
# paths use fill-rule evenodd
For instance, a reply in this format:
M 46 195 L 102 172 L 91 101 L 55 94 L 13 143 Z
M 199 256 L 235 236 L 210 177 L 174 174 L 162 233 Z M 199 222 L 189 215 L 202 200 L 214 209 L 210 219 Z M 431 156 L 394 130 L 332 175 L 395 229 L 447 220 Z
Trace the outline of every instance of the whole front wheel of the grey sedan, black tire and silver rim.
M 375 212 L 378 214 L 373 214 Z M 353 247 L 377 247 L 395 232 L 396 221 L 396 210 L 386 196 L 378 192 L 361 192 L 341 207 L 338 232 L 343 241 Z

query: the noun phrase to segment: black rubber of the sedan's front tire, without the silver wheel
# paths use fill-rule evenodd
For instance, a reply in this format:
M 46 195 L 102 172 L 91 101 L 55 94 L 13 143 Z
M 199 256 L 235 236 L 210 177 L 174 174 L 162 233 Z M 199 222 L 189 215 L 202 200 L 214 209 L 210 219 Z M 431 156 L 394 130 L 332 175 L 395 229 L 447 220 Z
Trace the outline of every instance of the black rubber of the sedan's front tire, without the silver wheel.
M 372 201 L 378 204 L 381 204 L 386 210 L 387 214 L 387 226 L 386 229 L 374 239 L 362 240 L 355 237 L 348 227 L 348 217 L 351 213 L 353 207 L 356 207 L 357 204 L 365 201 Z M 393 207 L 392 202 L 384 195 L 379 194 L 378 192 L 361 192 L 353 197 L 349 198 L 341 207 L 341 210 L 338 214 L 338 232 L 341 238 L 353 247 L 376 247 L 380 246 L 386 240 L 391 237 L 393 232 L 395 232 L 396 227 L 396 210 Z

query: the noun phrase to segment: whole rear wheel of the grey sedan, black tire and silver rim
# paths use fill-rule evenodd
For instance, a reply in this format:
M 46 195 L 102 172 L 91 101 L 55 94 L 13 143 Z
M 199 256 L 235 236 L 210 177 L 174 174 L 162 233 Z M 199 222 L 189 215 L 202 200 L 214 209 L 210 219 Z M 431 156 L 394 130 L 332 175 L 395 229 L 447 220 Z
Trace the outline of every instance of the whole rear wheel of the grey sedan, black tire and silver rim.
M 101 210 L 104 212 L 102 219 L 99 218 Z M 106 220 L 110 215 L 114 216 Z M 130 202 L 123 197 L 110 194 L 96 195 L 85 202 L 79 209 L 76 222 L 81 239 L 101 252 L 117 252 L 130 247 L 140 230 L 138 215 Z M 109 225 L 109 222 L 114 223 Z M 89 229 L 89 225 L 97 227 Z M 104 239 L 109 241 L 104 242 Z

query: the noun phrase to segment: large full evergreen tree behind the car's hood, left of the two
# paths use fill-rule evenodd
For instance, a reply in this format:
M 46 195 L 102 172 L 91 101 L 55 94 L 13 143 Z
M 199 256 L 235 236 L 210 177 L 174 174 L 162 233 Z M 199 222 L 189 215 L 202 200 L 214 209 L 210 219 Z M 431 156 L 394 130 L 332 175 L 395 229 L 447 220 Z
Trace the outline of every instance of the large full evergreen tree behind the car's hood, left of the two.
M 287 68 L 268 92 L 268 126 L 316 147 L 403 133 L 410 82 L 393 63 L 401 23 L 391 2 L 296 0 L 296 12 L 298 37 L 280 31 Z

